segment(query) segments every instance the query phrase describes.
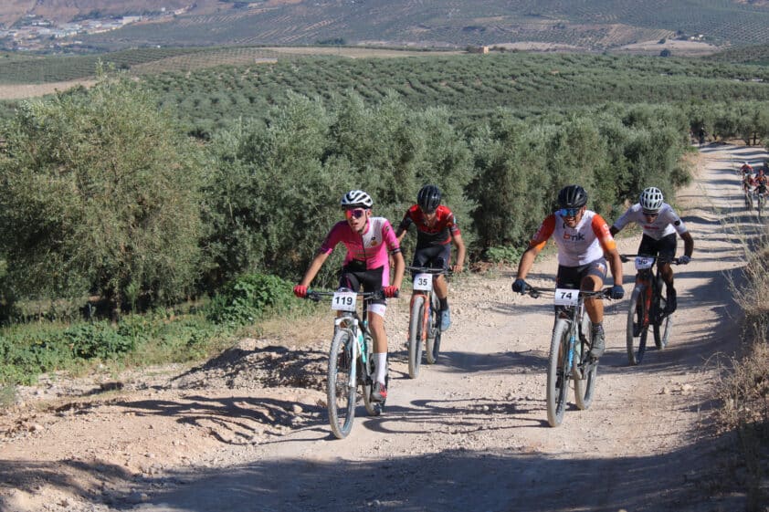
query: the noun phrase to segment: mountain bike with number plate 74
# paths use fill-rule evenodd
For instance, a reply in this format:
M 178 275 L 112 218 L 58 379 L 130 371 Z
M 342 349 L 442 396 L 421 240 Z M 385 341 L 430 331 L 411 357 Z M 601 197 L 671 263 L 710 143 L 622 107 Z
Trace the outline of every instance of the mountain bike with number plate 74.
M 547 423 L 556 427 L 564 421 L 569 381 L 574 381 L 578 409 L 585 410 L 593 402 L 598 360 L 590 355 L 593 324 L 585 311 L 585 298 L 609 298 L 611 288 L 582 291 L 527 286 L 526 293 L 533 298 L 553 294 L 558 308 L 547 363 Z

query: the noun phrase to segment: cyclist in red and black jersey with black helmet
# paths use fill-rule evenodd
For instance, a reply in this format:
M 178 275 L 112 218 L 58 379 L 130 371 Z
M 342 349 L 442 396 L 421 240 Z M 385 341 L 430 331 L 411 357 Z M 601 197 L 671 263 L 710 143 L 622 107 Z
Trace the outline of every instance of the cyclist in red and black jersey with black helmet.
M 465 264 L 465 243 L 459 232 L 454 214 L 448 207 L 440 204 L 441 193 L 436 185 L 425 185 L 416 194 L 416 204 L 406 214 L 395 231 L 398 243 L 412 224 L 416 225 L 416 250 L 413 266 L 448 268 L 451 257 L 451 244 L 457 247 L 457 259 L 451 270 L 461 272 Z M 448 309 L 448 283 L 443 276 L 435 279 L 435 290 L 440 300 L 440 330 L 445 331 L 451 325 Z

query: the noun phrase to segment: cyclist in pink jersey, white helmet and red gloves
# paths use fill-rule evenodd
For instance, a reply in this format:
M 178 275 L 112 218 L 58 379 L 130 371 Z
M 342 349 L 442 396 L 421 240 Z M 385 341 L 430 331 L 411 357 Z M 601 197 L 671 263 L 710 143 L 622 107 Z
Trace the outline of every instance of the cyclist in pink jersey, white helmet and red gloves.
M 401 254 L 398 239 L 390 222 L 384 217 L 371 216 L 374 202 L 368 193 L 351 190 L 342 196 L 342 209 L 347 220 L 337 223 L 326 236 L 312 258 L 307 272 L 300 283 L 294 287 L 294 295 L 307 296 L 307 287 L 318 275 L 321 266 L 328 259 L 335 246 L 342 243 L 347 247 L 344 264 L 339 279 L 339 287 L 359 291 L 384 290 L 387 298 L 395 297 L 403 282 L 406 262 Z M 395 261 L 395 277 L 390 285 L 389 255 Z M 384 331 L 384 311 L 386 300 L 373 300 L 368 307 L 369 327 L 374 336 L 374 392 L 372 398 L 384 402 L 387 389 L 384 385 L 387 376 L 387 333 Z

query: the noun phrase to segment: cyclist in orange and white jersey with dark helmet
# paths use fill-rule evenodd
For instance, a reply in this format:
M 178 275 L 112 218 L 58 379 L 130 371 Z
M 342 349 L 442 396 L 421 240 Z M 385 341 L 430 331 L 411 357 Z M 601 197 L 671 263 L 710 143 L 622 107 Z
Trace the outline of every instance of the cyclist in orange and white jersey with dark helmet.
M 558 246 L 558 274 L 556 287 L 585 291 L 599 291 L 604 286 L 606 271 L 611 267 L 614 287 L 612 298 L 623 298 L 622 261 L 616 252 L 616 243 L 609 226 L 601 215 L 586 209 L 587 193 L 579 185 L 569 185 L 558 193 L 560 210 L 545 217 L 536 235 L 529 243 L 518 263 L 518 274 L 512 291 L 526 293 L 534 259 L 552 236 Z M 608 260 L 608 263 L 606 262 Z M 606 350 L 604 334 L 604 302 L 600 298 L 585 300 L 587 316 L 593 322 L 593 348 L 590 355 L 599 358 Z

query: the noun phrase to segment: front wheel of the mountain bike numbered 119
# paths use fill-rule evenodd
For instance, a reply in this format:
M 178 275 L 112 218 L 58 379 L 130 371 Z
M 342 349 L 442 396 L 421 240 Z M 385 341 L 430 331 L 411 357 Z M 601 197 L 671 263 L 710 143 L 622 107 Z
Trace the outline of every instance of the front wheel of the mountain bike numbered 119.
M 337 329 L 329 352 L 329 373 L 326 402 L 332 433 L 343 439 L 353 430 L 355 418 L 355 388 L 353 381 L 353 333 Z

